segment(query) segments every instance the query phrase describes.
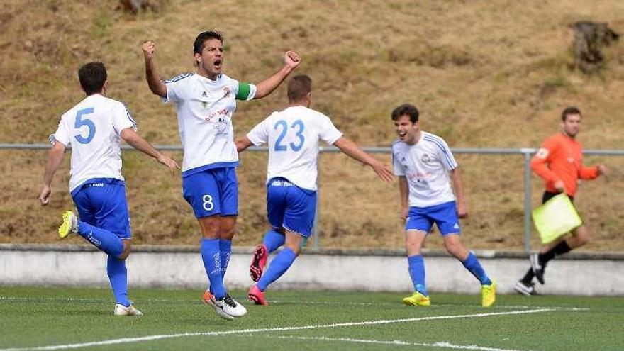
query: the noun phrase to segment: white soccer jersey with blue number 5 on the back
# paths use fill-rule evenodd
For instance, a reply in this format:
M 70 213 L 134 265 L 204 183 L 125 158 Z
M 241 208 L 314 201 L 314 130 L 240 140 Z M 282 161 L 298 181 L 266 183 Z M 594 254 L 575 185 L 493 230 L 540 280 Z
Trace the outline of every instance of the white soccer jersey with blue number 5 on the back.
M 72 145 L 69 191 L 89 179 L 123 180 L 120 143 L 121 131 L 126 128 L 136 130 L 126 106 L 100 94 L 87 96 L 63 113 L 50 143 Z

